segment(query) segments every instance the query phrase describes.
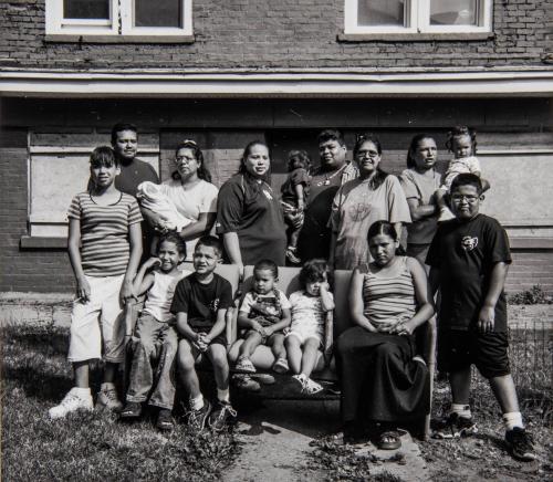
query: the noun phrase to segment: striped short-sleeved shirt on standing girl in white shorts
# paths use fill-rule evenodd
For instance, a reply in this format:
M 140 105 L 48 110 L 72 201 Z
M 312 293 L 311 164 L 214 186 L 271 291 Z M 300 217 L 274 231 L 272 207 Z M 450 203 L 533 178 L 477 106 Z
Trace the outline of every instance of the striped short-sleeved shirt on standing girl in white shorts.
M 125 274 L 128 227 L 143 219 L 135 198 L 122 192 L 117 202 L 100 206 L 88 192 L 80 192 L 71 201 L 67 218 L 81 221 L 81 265 L 86 275 Z

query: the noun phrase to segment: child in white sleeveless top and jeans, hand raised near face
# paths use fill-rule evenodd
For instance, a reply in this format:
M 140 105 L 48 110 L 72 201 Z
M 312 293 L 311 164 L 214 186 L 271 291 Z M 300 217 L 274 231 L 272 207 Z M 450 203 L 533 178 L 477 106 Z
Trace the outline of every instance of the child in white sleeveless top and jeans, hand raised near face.
M 146 261 L 134 281 L 138 294 L 146 291 L 148 294 L 132 339 L 131 381 L 121 417 L 138 418 L 142 413 L 142 404 L 148 399 L 148 394 L 154 387 L 148 404 L 159 408 L 156 426 L 160 430 L 171 430 L 174 427 L 171 417 L 175 400 L 174 360 L 177 355 L 178 335 L 174 326 L 175 317 L 169 308 L 177 283 L 191 273 L 179 270 L 179 263 L 185 258 L 186 244 L 182 239 L 176 232 L 163 234 L 157 244 L 157 258 Z M 161 356 L 155 377 L 150 360 L 158 344 L 161 344 Z M 154 378 L 157 378 L 155 385 Z

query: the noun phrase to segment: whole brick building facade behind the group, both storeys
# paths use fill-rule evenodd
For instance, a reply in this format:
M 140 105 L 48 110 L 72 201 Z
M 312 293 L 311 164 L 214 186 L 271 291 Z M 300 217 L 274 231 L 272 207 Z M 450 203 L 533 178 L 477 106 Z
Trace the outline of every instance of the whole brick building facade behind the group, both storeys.
M 414 134 L 436 136 L 444 166 L 446 132 L 470 125 L 492 184 L 486 212 L 512 240 L 508 287 L 553 292 L 553 1 L 476 2 L 489 8 L 488 31 L 352 33 L 348 0 L 186 0 L 191 33 L 173 36 L 126 34 L 114 14 L 108 34 L 67 33 L 52 28 L 52 3 L 0 3 L 0 291 L 71 291 L 65 198 L 87 153 L 127 120 L 163 178 L 191 137 L 218 186 L 253 138 L 273 148 L 279 185 L 286 149 L 316 159 L 324 127 L 343 129 L 349 149 L 356 133 L 375 132 L 383 167 L 398 174 Z

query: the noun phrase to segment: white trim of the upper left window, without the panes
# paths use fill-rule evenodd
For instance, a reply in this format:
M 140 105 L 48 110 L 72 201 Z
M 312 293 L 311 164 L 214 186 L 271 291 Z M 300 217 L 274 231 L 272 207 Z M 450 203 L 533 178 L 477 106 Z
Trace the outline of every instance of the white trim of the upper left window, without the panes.
M 46 35 L 192 35 L 192 0 L 182 2 L 182 28 L 133 27 L 134 1 L 111 0 L 108 20 L 64 19 L 62 0 L 45 0 Z

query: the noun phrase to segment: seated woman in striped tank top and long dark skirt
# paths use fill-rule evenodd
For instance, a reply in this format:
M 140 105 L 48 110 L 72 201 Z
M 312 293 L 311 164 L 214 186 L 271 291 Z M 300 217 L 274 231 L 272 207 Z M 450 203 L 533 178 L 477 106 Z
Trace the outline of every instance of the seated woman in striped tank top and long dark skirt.
M 414 331 L 434 315 L 421 264 L 398 255 L 394 226 L 375 222 L 367 234 L 373 262 L 352 274 L 356 326 L 337 342 L 344 434 L 369 434 L 379 449 L 397 449 L 399 423 L 428 409 L 428 370 L 416 356 Z

